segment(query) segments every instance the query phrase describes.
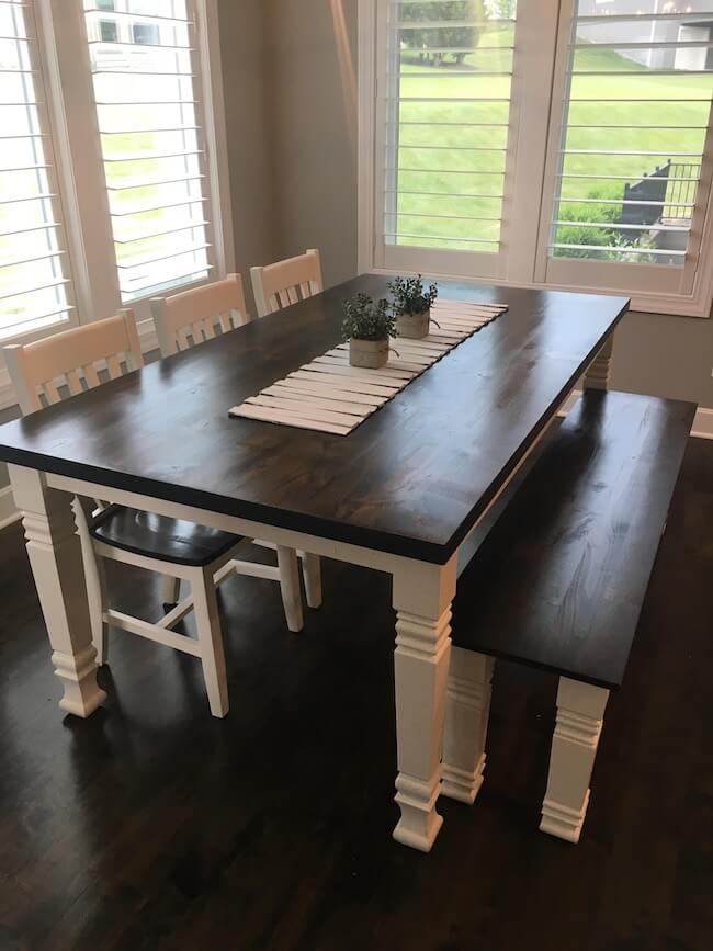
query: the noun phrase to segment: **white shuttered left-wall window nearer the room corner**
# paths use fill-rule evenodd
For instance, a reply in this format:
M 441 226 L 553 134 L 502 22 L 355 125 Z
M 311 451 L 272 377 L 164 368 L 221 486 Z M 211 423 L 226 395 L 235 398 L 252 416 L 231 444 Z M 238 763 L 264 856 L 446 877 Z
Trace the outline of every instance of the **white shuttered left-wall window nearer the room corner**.
M 86 0 L 124 302 L 214 267 L 196 14 L 190 0 Z

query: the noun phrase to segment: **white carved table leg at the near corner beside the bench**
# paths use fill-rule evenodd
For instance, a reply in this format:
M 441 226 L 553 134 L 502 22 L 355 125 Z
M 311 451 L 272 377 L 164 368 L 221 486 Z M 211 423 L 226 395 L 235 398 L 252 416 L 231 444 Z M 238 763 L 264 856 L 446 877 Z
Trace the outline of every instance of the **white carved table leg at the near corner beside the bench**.
M 396 802 L 401 811 L 394 838 L 422 852 L 430 851 L 443 824 L 435 802 L 441 791 L 455 579 L 455 558 L 443 567 L 412 562 L 394 575 Z

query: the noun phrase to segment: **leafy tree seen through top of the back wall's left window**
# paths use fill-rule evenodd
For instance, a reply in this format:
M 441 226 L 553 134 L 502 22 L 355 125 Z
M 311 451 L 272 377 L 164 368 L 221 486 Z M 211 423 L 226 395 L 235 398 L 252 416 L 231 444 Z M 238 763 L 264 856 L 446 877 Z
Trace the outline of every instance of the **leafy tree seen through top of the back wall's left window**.
M 401 9 L 401 21 L 411 23 L 439 23 L 439 26 L 425 26 L 404 30 L 401 42 L 409 49 L 418 49 L 428 63 L 442 63 L 452 56 L 460 65 L 468 52 L 478 45 L 482 22 L 486 19 L 486 0 L 449 0 L 446 3 L 408 3 Z M 507 0 L 506 0 L 507 2 Z M 449 26 L 449 22 L 453 25 Z M 460 25 L 462 23 L 467 25 Z M 431 53 L 432 49 L 454 49 L 454 53 Z

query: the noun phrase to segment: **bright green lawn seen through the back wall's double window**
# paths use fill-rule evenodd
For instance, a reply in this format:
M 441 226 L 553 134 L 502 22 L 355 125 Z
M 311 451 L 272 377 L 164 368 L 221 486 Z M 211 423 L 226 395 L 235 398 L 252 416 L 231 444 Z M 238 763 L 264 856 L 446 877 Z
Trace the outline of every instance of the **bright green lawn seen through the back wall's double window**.
M 419 237 L 401 238 L 399 244 L 497 250 L 509 104 L 493 100 L 509 99 L 510 78 L 486 73 L 511 69 L 511 52 L 498 48 L 510 42 L 509 32 L 490 31 L 482 37 L 478 52 L 459 66 L 452 61 L 444 66 L 427 65 L 412 50 L 401 54 L 398 214 L 387 220 L 387 229 Z M 577 75 L 611 70 L 623 75 Z M 604 148 L 635 154 L 567 155 L 563 171 L 578 176 L 625 176 L 633 184 L 669 158 L 674 162 L 699 165 L 705 128 L 682 126 L 708 124 L 712 92 L 713 76 L 684 71 L 660 76 L 615 52 L 593 47 L 580 50 L 571 83 L 569 125 L 599 123 L 621 128 L 569 128 L 567 149 Z M 448 101 L 409 101 L 416 99 Z M 576 102 L 585 99 L 599 101 Z M 631 99 L 664 101 L 626 101 Z M 682 102 L 687 99 L 698 101 Z M 468 123 L 484 125 L 468 126 Z M 647 125 L 657 127 L 643 127 Z M 392 154 L 387 165 L 395 163 Z M 563 181 L 564 199 L 620 200 L 625 185 L 616 180 Z M 517 208 L 513 213 L 517 214 Z M 619 214 L 619 206 L 563 203 L 558 214 L 574 222 L 611 220 L 612 214 Z M 589 244 L 582 240 L 584 231 L 576 225 L 567 230 L 569 240 Z

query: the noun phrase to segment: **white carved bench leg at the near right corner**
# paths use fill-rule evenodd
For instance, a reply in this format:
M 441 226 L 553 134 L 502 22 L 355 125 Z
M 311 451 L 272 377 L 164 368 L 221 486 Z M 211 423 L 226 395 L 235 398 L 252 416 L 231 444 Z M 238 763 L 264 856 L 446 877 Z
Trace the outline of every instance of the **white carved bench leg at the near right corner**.
M 581 834 L 608 700 L 609 691 L 601 687 L 559 678 L 557 725 L 540 828 L 568 842 L 578 842 Z

